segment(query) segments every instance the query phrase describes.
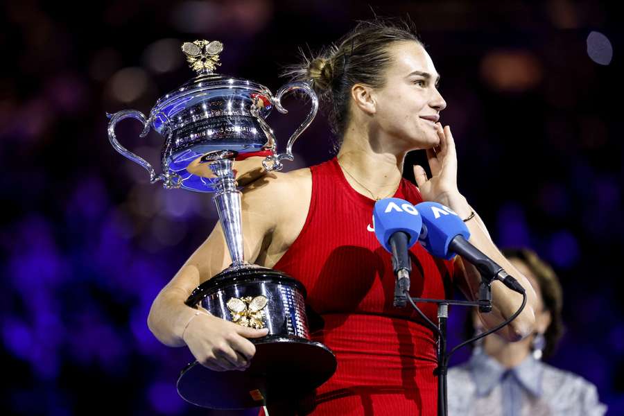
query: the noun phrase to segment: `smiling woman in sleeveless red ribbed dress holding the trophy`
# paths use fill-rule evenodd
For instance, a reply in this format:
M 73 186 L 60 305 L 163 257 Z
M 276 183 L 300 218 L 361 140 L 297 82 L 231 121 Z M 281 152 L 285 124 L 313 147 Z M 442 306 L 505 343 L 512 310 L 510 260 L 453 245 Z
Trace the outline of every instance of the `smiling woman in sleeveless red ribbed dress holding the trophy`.
M 315 399 L 270 405 L 275 415 L 436 415 L 435 336 L 411 308 L 392 306 L 391 257 L 371 228 L 376 200 L 395 196 L 413 204 L 440 202 L 465 219 L 470 241 L 527 288 L 526 308 L 503 329 L 509 340 L 533 331 L 535 293 L 496 248 L 480 217 L 457 188 L 456 150 L 440 112 L 447 103 L 437 89 L 433 61 L 409 25 L 363 21 L 335 46 L 291 68 L 329 107 L 338 155 L 288 173 L 270 173 L 242 196 L 245 259 L 302 281 L 306 303 L 324 327 L 311 334 L 336 354 L 338 368 Z M 414 166 L 418 187 L 402 178 L 406 153 L 426 150 L 431 177 Z M 492 185 L 496 187 L 496 185 Z M 421 245 L 410 294 L 444 298 L 454 281 L 468 297 L 480 275 L 462 259 L 444 261 Z M 148 325 L 165 345 L 187 345 L 215 371 L 245 370 L 255 353 L 248 338 L 266 336 L 184 304 L 191 291 L 226 268 L 229 254 L 220 225 L 153 302 Z M 492 284 L 493 311 L 485 327 L 508 319 L 521 295 Z M 435 322 L 437 307 L 422 311 Z

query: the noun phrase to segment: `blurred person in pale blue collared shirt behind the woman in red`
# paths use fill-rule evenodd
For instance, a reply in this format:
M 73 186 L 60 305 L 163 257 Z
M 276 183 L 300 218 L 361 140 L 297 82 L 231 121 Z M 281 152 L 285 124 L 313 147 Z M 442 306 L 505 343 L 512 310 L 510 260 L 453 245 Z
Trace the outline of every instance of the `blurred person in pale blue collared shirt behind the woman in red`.
M 553 268 L 527 248 L 503 250 L 537 293 L 535 333 L 510 343 L 497 333 L 477 341 L 469 361 L 448 374 L 449 416 L 600 416 L 596 386 L 541 361 L 562 334 L 562 287 Z M 484 331 L 472 311 L 466 335 Z

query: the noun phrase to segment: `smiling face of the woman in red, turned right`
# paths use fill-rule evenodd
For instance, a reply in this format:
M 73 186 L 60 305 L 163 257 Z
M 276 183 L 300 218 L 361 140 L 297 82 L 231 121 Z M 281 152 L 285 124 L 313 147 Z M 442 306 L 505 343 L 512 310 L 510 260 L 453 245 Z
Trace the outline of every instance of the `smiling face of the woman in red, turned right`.
M 385 85 L 372 91 L 374 121 L 405 150 L 437 146 L 435 122 L 447 103 L 437 91 L 433 61 L 417 42 L 395 42 L 389 49 Z

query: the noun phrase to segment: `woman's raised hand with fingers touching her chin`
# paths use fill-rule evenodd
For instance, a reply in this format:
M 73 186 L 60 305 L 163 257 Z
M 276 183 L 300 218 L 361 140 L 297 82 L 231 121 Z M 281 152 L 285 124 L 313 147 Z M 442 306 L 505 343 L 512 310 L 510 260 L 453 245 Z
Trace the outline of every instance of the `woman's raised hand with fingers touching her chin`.
M 424 168 L 414 166 L 414 177 L 423 200 L 440 202 L 449 205 L 450 199 L 460 196 L 457 187 L 457 154 L 451 128 L 435 123 L 440 146 L 427 149 L 427 159 L 431 168 L 431 178 L 427 177 Z M 452 208 L 452 207 L 451 207 Z

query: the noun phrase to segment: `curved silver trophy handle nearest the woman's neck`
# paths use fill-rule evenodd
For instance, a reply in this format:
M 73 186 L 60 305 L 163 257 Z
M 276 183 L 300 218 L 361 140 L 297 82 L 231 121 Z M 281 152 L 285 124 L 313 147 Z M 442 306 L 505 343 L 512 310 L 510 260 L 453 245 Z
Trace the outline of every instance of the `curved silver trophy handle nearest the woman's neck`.
M 300 91 L 306 94 L 306 96 L 310 98 L 310 101 L 312 103 L 312 108 L 310 109 L 310 112 L 308 113 L 308 116 L 306 116 L 306 119 L 303 121 L 303 123 L 301 123 L 301 125 L 297 128 L 297 130 L 295 130 L 293 135 L 291 135 L 291 138 L 288 139 L 288 143 L 286 144 L 286 152 L 281 153 L 281 154 L 267 156 L 266 159 L 262 161 L 262 166 L 267 171 L 280 171 L 281 168 L 284 167 L 281 164 L 281 160 L 283 159 L 293 160 L 294 159 L 293 158 L 293 144 L 295 143 L 295 140 L 297 140 L 297 137 L 299 137 L 302 134 L 302 132 L 304 132 L 304 130 L 308 128 L 308 126 L 310 125 L 310 123 L 312 123 L 312 120 L 316 116 L 316 112 L 318 112 L 318 96 L 316 96 L 316 93 L 314 92 L 314 90 L 312 89 L 309 83 L 302 83 L 302 82 L 288 83 L 284 85 L 284 87 L 281 87 L 279 90 L 277 90 L 277 94 L 275 94 L 275 97 L 273 97 L 271 101 L 279 112 L 281 112 L 282 114 L 288 113 L 288 110 L 286 110 L 281 105 L 281 98 L 294 91 Z

